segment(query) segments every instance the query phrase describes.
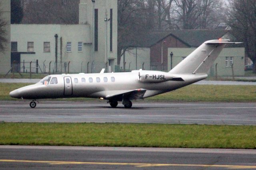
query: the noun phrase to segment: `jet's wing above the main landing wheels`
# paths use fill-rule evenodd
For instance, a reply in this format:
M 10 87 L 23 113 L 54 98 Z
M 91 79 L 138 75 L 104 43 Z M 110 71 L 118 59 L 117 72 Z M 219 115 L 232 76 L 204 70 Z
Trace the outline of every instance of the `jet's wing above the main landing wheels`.
M 114 99 L 117 101 L 122 101 L 123 98 L 127 100 L 136 100 L 136 99 L 142 99 L 146 89 L 136 89 L 136 90 L 129 90 L 129 91 L 124 91 L 124 90 L 118 90 L 114 92 L 114 94 L 110 94 L 106 96 L 106 99 Z

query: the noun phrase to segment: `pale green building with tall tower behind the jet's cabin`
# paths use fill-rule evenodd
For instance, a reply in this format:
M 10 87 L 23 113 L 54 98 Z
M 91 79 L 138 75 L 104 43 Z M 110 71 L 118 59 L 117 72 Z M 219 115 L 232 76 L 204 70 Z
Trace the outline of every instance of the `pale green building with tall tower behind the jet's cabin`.
M 20 71 L 114 71 L 117 63 L 117 1 L 80 0 L 79 24 L 12 24 L 12 61 Z

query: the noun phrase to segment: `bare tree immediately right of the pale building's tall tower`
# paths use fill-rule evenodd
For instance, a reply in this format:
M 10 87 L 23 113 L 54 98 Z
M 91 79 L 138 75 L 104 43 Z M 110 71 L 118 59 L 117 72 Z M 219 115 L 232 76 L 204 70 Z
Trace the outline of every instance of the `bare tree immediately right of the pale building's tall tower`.
M 147 33 L 147 9 L 143 0 L 118 0 L 118 65 L 123 53 L 142 42 L 140 37 Z

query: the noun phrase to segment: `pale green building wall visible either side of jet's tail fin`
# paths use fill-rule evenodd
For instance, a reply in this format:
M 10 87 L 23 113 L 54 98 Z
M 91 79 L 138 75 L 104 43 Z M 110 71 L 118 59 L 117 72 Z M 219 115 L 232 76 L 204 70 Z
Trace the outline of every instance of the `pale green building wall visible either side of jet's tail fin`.
M 168 48 L 168 53 L 173 53 L 172 68 L 182 61 L 182 57 L 188 56 L 196 48 Z M 208 74 L 215 76 L 215 65 L 217 64 L 218 76 L 232 76 L 232 68 L 225 66 L 226 57 L 234 57 L 234 75 L 244 76 L 244 48 L 224 48 Z M 168 56 L 168 70 L 171 69 L 171 59 Z

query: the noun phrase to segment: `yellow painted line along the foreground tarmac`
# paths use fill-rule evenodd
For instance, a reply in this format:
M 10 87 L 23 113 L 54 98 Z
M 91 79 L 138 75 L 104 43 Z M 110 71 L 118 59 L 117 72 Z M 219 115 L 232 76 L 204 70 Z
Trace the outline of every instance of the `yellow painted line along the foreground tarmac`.
M 150 166 L 191 166 L 191 167 L 215 167 L 215 168 L 236 168 L 236 169 L 256 169 L 255 166 L 247 165 L 207 165 L 207 164 L 148 164 L 148 163 L 119 163 L 119 162 L 75 162 L 75 161 L 50 161 L 50 160 L 8 160 L 0 159 L 0 162 L 22 162 L 22 163 L 46 163 L 52 165 L 58 164 L 95 164 L 95 165 L 130 165 L 136 167 Z

